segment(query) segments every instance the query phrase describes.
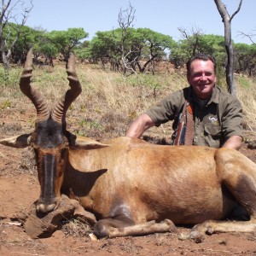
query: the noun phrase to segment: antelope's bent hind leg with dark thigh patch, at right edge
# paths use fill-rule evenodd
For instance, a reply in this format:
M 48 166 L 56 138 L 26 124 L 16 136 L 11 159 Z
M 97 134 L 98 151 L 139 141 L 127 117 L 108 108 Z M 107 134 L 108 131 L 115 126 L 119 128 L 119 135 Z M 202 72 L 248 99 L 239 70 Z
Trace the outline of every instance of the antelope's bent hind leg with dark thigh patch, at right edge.
M 206 221 L 197 224 L 190 232 L 195 238 L 200 233 L 256 231 L 256 164 L 235 150 L 219 149 L 216 154 L 216 172 L 236 200 L 244 207 L 249 221 Z

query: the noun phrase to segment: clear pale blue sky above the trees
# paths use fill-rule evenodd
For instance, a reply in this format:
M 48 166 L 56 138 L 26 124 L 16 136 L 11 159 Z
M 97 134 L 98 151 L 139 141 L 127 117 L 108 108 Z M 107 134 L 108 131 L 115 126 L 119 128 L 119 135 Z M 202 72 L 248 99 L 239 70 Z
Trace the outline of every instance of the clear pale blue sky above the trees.
M 98 31 L 119 28 L 120 10 L 136 10 L 133 27 L 149 28 L 182 39 L 178 27 L 191 34 L 192 29 L 204 34 L 224 36 L 224 23 L 213 0 L 32 0 L 33 9 L 26 26 L 41 27 L 47 32 L 83 27 L 91 39 Z M 25 0 L 29 3 L 30 0 Z M 232 15 L 240 0 L 223 0 Z M 231 22 L 231 35 L 235 43 L 251 44 L 239 32 L 256 34 L 256 0 L 243 0 L 240 12 Z

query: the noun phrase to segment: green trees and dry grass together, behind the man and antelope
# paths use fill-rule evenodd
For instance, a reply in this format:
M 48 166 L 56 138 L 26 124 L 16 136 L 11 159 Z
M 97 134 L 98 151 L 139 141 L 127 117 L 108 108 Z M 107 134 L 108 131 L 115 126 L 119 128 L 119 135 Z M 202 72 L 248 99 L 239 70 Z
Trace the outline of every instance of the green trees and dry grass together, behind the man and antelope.
M 31 10 L 32 6 L 24 9 L 24 18 Z M 25 23 L 10 22 L 9 16 L 0 20 L 3 26 L 1 42 L 4 43 L 0 57 L 3 63 L 0 68 L 0 108 L 12 108 L 13 101 L 21 99 L 18 88 L 21 67 L 31 47 L 35 64 L 32 82 L 52 102 L 64 91 L 64 81 L 67 83 L 64 63 L 71 51 L 75 53 L 84 91 L 69 113 L 71 119 L 78 116 L 74 124 L 81 135 L 99 138 L 104 137 L 104 132 L 108 133 L 107 137 L 124 135 L 127 125 L 139 113 L 187 84 L 183 70 L 185 63 L 198 52 L 216 57 L 218 84 L 227 88 L 224 73 L 228 58 L 224 37 L 180 28 L 183 39 L 176 42 L 149 28 L 134 28 L 134 12 L 131 6 L 120 10 L 119 28 L 96 32 L 90 41 L 86 40 L 89 34 L 83 28 L 47 32 L 43 28 L 25 26 Z M 244 108 L 245 127 L 253 130 L 256 122 L 256 44 L 253 41 L 250 45 L 233 42 L 233 47 L 235 95 Z M 170 137 L 170 129 L 162 125 L 158 131 L 161 137 L 163 134 Z

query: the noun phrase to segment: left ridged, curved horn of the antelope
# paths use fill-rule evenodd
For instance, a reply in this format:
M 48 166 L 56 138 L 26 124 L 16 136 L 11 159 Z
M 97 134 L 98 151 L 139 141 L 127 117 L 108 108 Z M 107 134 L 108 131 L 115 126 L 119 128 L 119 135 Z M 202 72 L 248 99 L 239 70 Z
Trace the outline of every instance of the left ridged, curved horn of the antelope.
M 32 101 L 37 109 L 37 121 L 49 118 L 49 106 L 41 93 L 30 85 L 32 78 L 32 49 L 26 55 L 26 62 L 20 77 L 20 90 Z

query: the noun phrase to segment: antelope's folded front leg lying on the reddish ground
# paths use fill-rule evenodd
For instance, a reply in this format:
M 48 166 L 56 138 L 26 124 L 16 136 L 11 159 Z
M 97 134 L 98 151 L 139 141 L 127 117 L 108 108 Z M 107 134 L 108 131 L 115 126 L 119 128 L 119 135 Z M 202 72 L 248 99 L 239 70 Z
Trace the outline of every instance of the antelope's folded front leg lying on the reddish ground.
M 143 224 L 128 224 L 119 219 L 105 218 L 98 221 L 94 227 L 94 234 L 100 237 L 145 236 L 153 233 L 177 232 L 171 220 L 165 219 L 160 223 L 149 221 Z

